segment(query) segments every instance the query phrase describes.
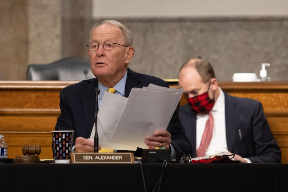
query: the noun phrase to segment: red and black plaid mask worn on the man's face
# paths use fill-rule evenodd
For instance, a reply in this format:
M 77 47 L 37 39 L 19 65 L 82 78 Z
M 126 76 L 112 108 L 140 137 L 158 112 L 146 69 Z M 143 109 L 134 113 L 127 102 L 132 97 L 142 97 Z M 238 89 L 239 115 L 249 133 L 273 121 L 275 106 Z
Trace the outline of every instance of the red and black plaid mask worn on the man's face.
M 211 81 L 209 83 L 208 91 L 210 88 L 210 84 Z M 196 95 L 195 97 L 187 99 L 191 108 L 197 113 L 207 114 L 213 108 L 215 101 L 214 99 L 209 98 L 208 91 L 201 95 Z

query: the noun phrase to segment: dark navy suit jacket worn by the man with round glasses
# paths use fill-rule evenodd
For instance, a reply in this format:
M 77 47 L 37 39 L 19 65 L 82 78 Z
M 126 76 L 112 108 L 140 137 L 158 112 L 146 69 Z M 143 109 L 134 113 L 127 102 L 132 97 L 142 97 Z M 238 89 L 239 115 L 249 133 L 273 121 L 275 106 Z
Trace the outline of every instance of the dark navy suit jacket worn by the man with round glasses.
M 147 87 L 150 83 L 169 87 L 167 82 L 154 76 L 135 73 L 128 68 L 125 97 L 134 87 Z M 94 88 L 98 86 L 97 78 L 84 80 L 69 85 L 60 92 L 61 114 L 57 119 L 55 130 L 74 130 L 74 141 L 77 137 L 89 138 L 95 122 Z M 172 145 L 176 149 L 177 158 L 183 154 L 191 154 L 192 147 L 184 134 L 179 114 L 174 112 L 167 131 L 172 135 Z M 152 134 L 152 133 L 151 133 Z M 144 141 L 145 138 L 143 138 Z

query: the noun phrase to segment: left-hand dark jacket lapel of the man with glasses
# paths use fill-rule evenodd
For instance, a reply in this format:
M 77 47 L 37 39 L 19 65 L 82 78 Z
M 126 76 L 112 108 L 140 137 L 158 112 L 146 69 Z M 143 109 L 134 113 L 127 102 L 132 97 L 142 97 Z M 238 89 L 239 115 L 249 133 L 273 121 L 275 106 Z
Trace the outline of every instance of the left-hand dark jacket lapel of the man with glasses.
M 86 123 L 86 129 L 88 132 L 88 137 L 92 132 L 92 128 L 95 122 L 95 100 L 96 96 L 94 93 L 94 88 L 98 86 L 97 78 L 92 79 L 89 85 L 84 89 L 84 95 L 80 98 L 83 116 Z

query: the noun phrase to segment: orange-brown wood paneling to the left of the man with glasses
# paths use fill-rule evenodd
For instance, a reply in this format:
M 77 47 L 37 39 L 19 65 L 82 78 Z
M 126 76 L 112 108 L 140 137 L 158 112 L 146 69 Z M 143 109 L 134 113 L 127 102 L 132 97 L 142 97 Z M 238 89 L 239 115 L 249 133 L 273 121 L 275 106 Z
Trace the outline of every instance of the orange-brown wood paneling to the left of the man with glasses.
M 60 115 L 59 93 L 76 82 L 0 81 L 0 134 L 8 158 L 22 155 L 22 146 L 41 145 L 40 159 L 52 159 L 52 135 Z

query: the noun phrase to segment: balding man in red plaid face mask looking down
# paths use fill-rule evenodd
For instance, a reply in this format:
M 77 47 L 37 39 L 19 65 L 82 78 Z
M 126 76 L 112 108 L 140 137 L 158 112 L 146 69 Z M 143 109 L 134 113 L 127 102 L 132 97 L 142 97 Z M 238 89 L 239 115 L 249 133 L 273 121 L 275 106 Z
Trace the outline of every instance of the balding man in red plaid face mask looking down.
M 232 97 L 218 87 L 214 70 L 204 59 L 185 62 L 179 86 L 188 104 L 180 119 L 193 147 L 192 157 L 220 152 L 245 163 L 280 163 L 281 151 L 259 101 Z

